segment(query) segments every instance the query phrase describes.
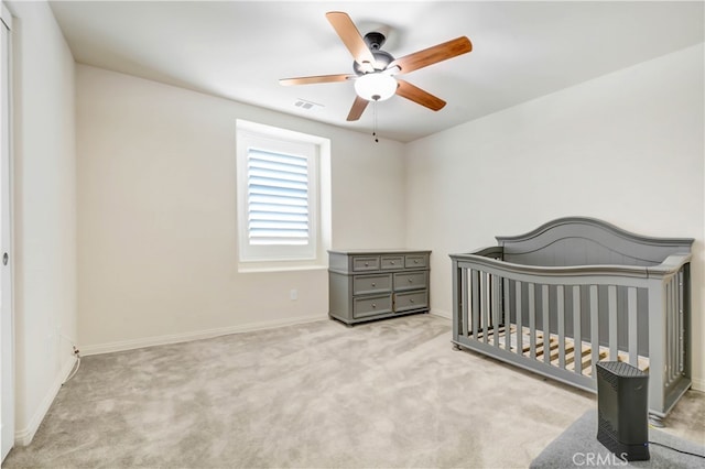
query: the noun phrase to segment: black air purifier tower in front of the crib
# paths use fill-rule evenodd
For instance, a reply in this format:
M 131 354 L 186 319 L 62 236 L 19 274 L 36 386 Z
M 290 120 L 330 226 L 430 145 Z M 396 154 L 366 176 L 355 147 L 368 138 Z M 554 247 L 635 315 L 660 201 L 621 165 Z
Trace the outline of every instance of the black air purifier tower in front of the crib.
M 597 368 L 597 440 L 618 458 L 649 459 L 649 375 L 619 361 Z

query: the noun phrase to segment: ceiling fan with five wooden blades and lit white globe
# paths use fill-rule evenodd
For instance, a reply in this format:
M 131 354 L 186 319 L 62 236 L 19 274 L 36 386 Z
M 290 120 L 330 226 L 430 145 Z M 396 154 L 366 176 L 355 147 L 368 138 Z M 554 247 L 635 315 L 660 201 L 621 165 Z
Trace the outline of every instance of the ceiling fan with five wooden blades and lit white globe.
M 370 101 L 383 101 L 393 95 L 399 95 L 434 111 L 441 110 L 446 105 L 443 99 L 409 81 L 397 78 L 397 76 L 466 54 L 473 50 L 470 40 L 460 36 L 401 58 L 394 58 L 390 53 L 380 48 L 386 41 L 384 34 L 370 32 L 362 37 L 350 17 L 341 11 L 330 11 L 326 13 L 326 18 L 352 54 L 355 74 L 282 78 L 279 83 L 290 86 L 355 80 L 357 96 L 348 113 L 348 121 L 358 120 Z

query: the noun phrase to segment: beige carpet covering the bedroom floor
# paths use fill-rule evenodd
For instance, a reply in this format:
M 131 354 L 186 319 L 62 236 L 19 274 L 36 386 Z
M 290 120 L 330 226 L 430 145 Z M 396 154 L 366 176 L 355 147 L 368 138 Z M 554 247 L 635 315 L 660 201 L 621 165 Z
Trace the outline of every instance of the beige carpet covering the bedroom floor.
M 449 340 L 414 315 L 86 357 L 3 467 L 525 468 L 595 405 Z

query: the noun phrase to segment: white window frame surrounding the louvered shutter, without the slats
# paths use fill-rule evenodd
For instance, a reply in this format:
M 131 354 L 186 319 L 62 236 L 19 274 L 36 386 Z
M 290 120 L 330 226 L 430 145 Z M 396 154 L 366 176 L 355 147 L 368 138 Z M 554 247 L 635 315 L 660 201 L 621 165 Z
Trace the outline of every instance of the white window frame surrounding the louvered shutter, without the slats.
M 330 141 L 238 119 L 237 219 L 238 270 L 325 268 L 330 246 Z M 250 149 L 306 157 L 308 163 L 308 243 L 258 246 L 249 239 L 248 152 Z

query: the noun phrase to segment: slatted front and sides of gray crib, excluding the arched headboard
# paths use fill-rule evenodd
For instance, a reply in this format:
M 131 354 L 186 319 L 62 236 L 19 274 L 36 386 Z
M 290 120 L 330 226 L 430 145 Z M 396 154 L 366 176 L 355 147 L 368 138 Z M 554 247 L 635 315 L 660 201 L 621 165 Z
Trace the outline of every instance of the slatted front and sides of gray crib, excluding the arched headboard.
M 657 417 L 690 388 L 690 254 L 657 266 L 523 265 L 502 247 L 451 258 L 456 346 L 592 392 L 595 363 L 628 362 L 649 372 Z

